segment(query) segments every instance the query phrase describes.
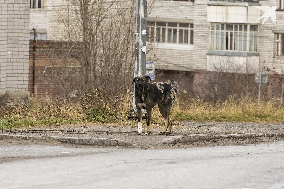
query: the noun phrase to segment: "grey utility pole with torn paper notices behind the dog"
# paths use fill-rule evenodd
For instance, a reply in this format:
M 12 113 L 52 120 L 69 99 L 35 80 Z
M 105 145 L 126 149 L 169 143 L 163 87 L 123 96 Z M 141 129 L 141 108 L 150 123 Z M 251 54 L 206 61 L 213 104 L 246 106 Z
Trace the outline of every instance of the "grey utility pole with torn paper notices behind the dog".
M 135 66 L 134 77 L 146 75 L 146 34 L 147 34 L 147 0 L 136 0 L 136 27 L 135 27 Z M 135 105 L 135 86 L 133 94 L 133 110 Z M 143 113 L 146 113 L 143 112 Z

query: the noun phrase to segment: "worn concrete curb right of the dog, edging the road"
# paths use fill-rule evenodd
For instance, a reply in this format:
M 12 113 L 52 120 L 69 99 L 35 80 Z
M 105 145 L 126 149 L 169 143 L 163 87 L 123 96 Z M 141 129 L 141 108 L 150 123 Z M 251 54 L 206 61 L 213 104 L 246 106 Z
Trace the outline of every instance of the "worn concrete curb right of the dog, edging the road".
M 228 139 L 228 138 L 235 138 L 235 139 L 250 139 L 250 138 L 257 138 L 257 137 L 274 137 L 274 136 L 283 136 L 284 133 L 247 133 L 247 134 L 229 134 L 229 135 L 204 135 L 204 134 L 194 134 L 188 136 L 169 136 L 167 138 L 163 138 L 159 141 L 156 141 L 157 144 L 176 144 L 186 143 L 186 142 L 195 142 L 195 141 L 202 141 L 202 140 L 212 140 L 212 139 Z

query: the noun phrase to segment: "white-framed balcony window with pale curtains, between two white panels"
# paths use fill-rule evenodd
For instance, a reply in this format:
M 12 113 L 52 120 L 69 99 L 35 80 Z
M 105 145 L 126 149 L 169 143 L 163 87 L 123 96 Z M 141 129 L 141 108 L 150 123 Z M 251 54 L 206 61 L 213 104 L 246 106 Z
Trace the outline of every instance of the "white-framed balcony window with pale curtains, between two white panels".
M 247 49 L 248 43 L 249 49 Z M 258 25 L 211 23 L 210 48 L 212 50 L 258 51 Z

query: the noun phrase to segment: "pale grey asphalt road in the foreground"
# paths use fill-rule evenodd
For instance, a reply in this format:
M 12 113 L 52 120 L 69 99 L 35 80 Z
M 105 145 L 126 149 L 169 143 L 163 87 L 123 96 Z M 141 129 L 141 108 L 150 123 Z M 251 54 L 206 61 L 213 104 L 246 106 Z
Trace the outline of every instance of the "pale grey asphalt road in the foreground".
M 186 149 L 0 145 L 0 188 L 284 188 L 284 142 Z M 26 158 L 26 159 L 19 159 Z

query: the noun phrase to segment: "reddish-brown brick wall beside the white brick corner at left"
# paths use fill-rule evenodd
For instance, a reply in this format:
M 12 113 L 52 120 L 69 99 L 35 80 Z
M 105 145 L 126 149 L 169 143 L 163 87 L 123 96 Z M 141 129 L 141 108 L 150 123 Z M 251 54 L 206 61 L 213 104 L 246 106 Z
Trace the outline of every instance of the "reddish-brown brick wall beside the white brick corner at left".
M 84 81 L 81 67 L 65 67 L 64 53 L 66 43 L 41 41 L 35 44 L 35 93 L 39 99 L 62 99 L 69 97 L 78 100 L 82 96 Z M 73 46 L 68 59 L 68 66 L 78 66 L 80 61 L 80 44 Z M 78 50 L 79 49 L 79 50 Z M 57 67 L 52 67 L 57 66 Z M 59 66 L 59 67 L 58 67 Z M 65 86 L 65 88 L 64 88 Z M 33 92 L 33 40 L 30 40 L 30 68 L 29 68 L 29 92 Z

